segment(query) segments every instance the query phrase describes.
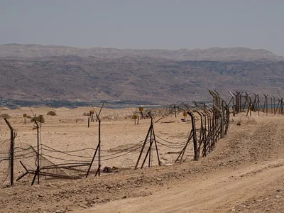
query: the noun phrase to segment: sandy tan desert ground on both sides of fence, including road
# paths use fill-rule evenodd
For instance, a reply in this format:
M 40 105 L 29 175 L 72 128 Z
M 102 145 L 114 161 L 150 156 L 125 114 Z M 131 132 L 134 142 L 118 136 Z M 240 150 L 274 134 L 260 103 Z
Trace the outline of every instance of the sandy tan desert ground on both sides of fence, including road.
M 37 108 L 33 112 L 45 115 L 49 110 L 57 115 L 44 116 L 41 143 L 61 151 L 96 148 L 98 123 L 87 128 L 87 116 L 83 116 L 89 108 Z M 135 146 L 146 137 L 150 119 L 134 125 L 129 119 L 133 110 L 102 110 L 102 155 Z M 11 116 L 9 121 L 18 133 L 16 144 L 36 145 L 33 124 L 23 124 L 22 115 L 30 115 L 30 109 L 1 109 L 1 113 Z M 191 125 L 181 119 L 179 114 L 178 118 L 167 116 L 154 123 L 155 134 L 165 141 L 183 143 Z M 236 125 L 238 121 L 241 126 Z M 9 139 L 3 119 L 0 128 L 0 141 Z M 184 162 L 174 163 L 180 147 L 158 144 L 160 167 L 153 155 L 151 168 L 133 170 L 138 149 L 102 161 L 102 168 L 115 166 L 118 173 L 102 173 L 96 178 L 92 174 L 79 180 L 41 178 L 40 185 L 33 186 L 32 177 L 26 177 L 13 187 L 1 187 L 0 212 L 284 212 L 283 136 L 284 116 L 231 116 L 229 133 L 206 158 L 193 161 L 190 146 Z M 81 154 L 89 160 L 93 151 Z M 64 153 L 49 155 L 53 163 L 62 163 L 65 158 Z

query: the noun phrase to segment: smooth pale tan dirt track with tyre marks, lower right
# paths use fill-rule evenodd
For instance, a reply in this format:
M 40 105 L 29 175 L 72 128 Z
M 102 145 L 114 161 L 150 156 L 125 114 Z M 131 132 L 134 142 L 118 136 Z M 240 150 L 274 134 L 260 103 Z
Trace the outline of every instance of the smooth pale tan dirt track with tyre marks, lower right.
M 284 177 L 284 159 L 241 168 L 220 175 L 206 175 L 205 180 L 182 182 L 148 197 L 138 197 L 100 204 L 91 212 L 226 212 L 235 210 L 271 182 Z M 273 174 L 273 175 L 272 175 Z

